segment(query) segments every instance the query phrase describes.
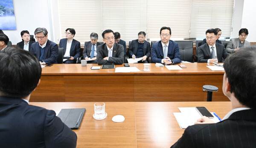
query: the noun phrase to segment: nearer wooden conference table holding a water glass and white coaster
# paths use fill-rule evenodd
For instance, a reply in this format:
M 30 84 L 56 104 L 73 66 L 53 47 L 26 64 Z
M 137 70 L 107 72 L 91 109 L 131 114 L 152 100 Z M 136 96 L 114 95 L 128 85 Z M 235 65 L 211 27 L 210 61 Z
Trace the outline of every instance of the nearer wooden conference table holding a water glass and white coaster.
M 205 106 L 221 119 L 232 110 L 231 102 L 105 102 L 108 116 L 93 118 L 95 102 L 29 102 L 55 110 L 86 108 L 81 126 L 76 132 L 77 148 L 169 148 L 183 134 L 173 113 L 178 107 Z M 112 121 L 115 115 L 124 122 Z

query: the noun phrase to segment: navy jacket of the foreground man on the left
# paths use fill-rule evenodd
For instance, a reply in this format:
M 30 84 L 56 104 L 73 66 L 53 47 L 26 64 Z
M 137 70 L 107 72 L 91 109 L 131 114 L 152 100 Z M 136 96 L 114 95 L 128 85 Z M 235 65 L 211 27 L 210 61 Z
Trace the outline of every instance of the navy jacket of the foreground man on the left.
M 53 110 L 0 96 L 1 148 L 75 148 L 77 136 Z

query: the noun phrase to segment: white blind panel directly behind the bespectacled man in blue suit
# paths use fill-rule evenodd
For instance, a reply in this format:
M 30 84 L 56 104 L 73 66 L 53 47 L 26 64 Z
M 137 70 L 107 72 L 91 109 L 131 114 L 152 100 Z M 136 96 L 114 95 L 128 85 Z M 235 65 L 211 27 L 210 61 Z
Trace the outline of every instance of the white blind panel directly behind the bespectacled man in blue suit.
M 171 28 L 172 38 L 189 37 L 191 2 L 191 0 L 148 0 L 148 38 L 151 41 L 160 40 L 160 29 L 163 26 Z

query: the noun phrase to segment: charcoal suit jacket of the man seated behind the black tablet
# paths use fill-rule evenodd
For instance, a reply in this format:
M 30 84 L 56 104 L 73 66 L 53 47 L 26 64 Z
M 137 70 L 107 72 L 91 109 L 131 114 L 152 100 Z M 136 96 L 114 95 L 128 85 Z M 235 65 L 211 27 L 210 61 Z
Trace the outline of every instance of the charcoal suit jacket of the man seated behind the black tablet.
M 98 65 L 103 64 L 118 64 L 121 65 L 124 63 L 124 47 L 120 44 L 113 45 L 112 57 L 107 60 L 103 60 L 103 58 L 108 57 L 108 48 L 104 43 L 97 47 L 97 63 Z

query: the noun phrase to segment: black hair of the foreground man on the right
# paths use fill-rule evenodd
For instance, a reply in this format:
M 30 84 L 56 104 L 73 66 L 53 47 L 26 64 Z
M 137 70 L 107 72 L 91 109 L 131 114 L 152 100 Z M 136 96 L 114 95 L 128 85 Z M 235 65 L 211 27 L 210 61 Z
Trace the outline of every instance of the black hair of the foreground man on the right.
M 224 61 L 230 92 L 243 105 L 256 108 L 256 46 L 240 49 Z

